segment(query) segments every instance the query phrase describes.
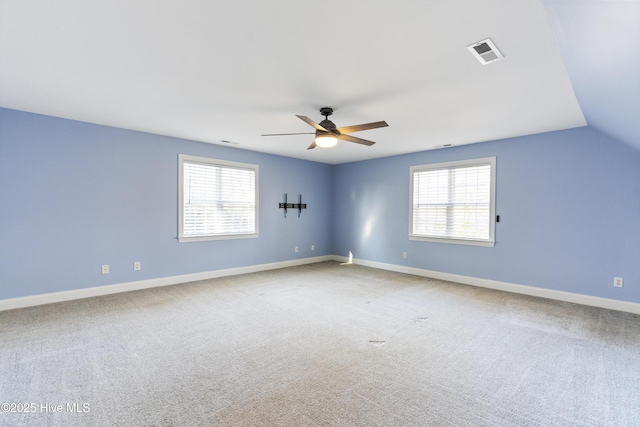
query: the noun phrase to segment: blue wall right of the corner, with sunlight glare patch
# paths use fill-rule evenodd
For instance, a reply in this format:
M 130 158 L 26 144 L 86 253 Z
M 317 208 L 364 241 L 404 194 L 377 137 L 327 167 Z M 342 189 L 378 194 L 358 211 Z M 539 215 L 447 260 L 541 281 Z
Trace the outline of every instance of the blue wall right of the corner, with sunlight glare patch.
M 495 247 L 410 241 L 409 167 L 489 156 Z M 336 255 L 640 302 L 640 152 L 592 129 L 338 165 L 333 193 Z

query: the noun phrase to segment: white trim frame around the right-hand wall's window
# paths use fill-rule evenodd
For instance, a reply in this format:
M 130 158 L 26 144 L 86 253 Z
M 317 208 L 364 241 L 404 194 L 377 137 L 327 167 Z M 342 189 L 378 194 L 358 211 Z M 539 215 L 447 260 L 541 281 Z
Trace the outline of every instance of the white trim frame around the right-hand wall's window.
M 452 167 L 461 166 L 479 166 L 479 165 L 491 165 L 491 199 L 489 205 L 489 239 L 488 240 L 475 240 L 475 239 L 456 239 L 448 237 L 427 237 L 413 234 L 413 175 L 415 172 L 436 170 L 436 169 L 449 169 Z M 472 246 L 495 246 L 495 226 L 496 226 L 496 158 L 495 157 L 482 157 L 478 159 L 458 160 L 454 162 L 445 163 L 432 163 L 425 165 L 411 166 L 409 171 L 409 240 L 418 240 L 422 242 L 435 242 L 435 243 L 453 243 L 458 245 L 472 245 Z

